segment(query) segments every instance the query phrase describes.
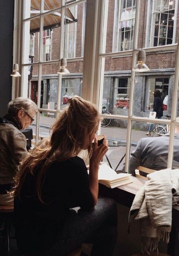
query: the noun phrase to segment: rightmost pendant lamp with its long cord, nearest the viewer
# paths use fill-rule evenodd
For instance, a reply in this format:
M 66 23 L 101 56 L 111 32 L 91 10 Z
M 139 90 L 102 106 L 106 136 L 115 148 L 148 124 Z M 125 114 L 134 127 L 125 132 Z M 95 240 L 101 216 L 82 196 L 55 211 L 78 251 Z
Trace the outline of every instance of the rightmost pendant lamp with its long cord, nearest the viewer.
M 145 52 L 145 50 L 143 50 L 145 11 L 146 11 L 146 0 L 144 1 L 142 49 L 138 52 L 138 55 L 137 55 L 137 64 L 135 65 L 135 67 L 133 69 L 133 71 L 135 71 L 135 72 L 147 72 L 147 71 L 150 71 L 148 66 L 145 64 L 146 52 Z

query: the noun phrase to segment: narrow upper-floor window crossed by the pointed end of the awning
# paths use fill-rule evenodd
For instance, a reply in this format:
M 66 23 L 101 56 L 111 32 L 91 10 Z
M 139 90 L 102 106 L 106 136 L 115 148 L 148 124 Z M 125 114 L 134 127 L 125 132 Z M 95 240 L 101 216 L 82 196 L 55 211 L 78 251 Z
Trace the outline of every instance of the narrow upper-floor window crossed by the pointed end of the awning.
M 72 15 L 77 17 L 77 5 L 69 8 Z M 64 46 L 64 56 L 65 58 L 75 58 L 75 44 L 76 44 L 76 22 L 66 24 L 65 31 L 65 46 Z

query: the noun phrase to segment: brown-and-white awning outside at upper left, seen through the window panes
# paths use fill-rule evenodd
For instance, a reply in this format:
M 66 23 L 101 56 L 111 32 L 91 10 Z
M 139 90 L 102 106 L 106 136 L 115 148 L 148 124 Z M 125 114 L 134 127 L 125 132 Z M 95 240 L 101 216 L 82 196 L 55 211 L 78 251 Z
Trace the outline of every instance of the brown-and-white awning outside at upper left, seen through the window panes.
M 55 8 L 59 8 L 59 0 L 44 1 L 44 12 Z M 30 16 L 35 16 L 40 13 L 40 0 L 31 0 Z M 43 30 L 60 27 L 61 25 L 61 11 L 44 16 Z M 69 8 L 66 8 L 66 24 L 77 22 Z M 40 30 L 40 18 L 36 18 L 30 21 L 30 34 L 38 32 Z

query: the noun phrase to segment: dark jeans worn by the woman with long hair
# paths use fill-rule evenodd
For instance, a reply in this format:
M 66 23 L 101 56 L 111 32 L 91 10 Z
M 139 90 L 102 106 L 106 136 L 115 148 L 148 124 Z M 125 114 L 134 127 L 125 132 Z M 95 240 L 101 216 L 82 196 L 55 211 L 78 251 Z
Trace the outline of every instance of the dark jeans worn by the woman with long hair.
M 70 210 L 59 241 L 43 256 L 65 255 L 82 243 L 93 243 L 91 256 L 112 256 L 117 236 L 117 209 L 112 199 L 99 198 L 94 210 Z

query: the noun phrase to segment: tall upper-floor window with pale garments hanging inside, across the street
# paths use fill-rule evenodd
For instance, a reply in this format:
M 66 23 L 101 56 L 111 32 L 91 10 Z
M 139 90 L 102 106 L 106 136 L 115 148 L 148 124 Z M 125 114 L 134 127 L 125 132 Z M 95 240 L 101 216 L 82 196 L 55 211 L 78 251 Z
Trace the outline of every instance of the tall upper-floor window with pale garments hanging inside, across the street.
M 116 13 L 114 22 L 114 51 L 120 52 L 133 49 L 133 30 L 135 25 L 135 0 L 116 0 Z

